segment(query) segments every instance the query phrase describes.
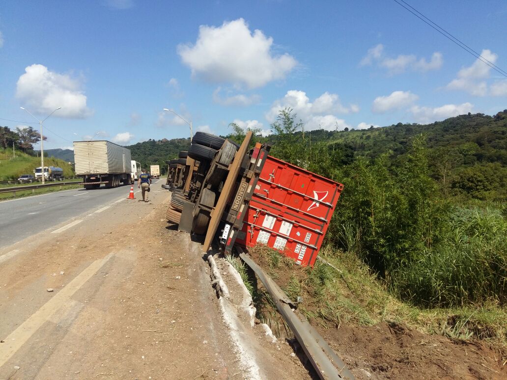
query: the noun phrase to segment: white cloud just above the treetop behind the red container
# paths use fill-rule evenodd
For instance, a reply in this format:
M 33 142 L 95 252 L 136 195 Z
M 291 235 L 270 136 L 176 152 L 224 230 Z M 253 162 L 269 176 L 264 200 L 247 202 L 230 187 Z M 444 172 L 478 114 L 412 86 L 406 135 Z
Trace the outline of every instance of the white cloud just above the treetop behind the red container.
M 271 109 L 266 113 L 266 119 L 272 123 L 276 120 L 278 112 L 284 108 L 292 108 L 297 113 L 297 119 L 305 123 L 305 130 L 314 129 L 338 130 L 350 127 L 343 119 L 338 119 L 336 113 L 358 112 L 356 104 L 344 106 L 337 94 L 325 92 L 310 102 L 304 91 L 287 91 L 281 99 L 275 100 Z

